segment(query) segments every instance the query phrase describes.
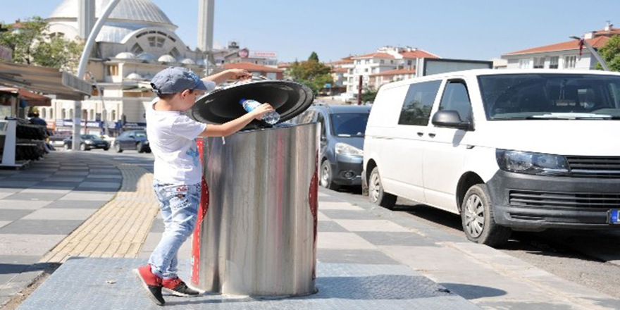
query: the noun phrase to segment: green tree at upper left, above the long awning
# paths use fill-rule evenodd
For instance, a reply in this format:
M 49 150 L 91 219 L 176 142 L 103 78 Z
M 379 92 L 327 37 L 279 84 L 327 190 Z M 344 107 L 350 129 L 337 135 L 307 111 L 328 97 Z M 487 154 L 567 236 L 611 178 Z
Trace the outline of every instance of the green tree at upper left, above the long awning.
M 0 32 L 0 45 L 13 50 L 13 62 L 72 70 L 77 68 L 82 44 L 49 33 L 49 25 L 35 16 Z

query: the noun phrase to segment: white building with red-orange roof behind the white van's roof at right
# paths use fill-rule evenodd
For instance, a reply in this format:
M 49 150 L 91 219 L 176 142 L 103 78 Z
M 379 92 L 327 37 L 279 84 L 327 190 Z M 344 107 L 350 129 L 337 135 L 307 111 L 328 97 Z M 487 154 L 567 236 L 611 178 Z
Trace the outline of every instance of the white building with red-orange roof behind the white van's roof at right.
M 586 32 L 583 38 L 594 49 L 605 46 L 609 37 L 620 35 L 620 29 L 607 24 L 604 30 Z M 581 51 L 581 55 L 580 55 Z M 596 58 L 583 46 L 580 49 L 579 41 L 560 42 L 545 46 L 538 46 L 523 51 L 513 51 L 502 55 L 507 63 L 507 69 L 594 69 Z

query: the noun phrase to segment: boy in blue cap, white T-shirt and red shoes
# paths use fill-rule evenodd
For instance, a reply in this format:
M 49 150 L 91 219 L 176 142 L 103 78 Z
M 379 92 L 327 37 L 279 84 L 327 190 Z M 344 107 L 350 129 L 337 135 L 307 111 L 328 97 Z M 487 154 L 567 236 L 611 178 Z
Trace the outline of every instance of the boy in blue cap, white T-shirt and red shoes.
M 222 125 L 198 123 L 184 112 L 204 92 L 213 90 L 216 83 L 249 77 L 246 70 L 226 70 L 200 80 L 190 70 L 170 67 L 157 73 L 151 81 L 158 98 L 147 108 L 147 135 L 155 156 L 153 187 L 165 230 L 149 264 L 134 269 L 134 273 L 149 297 L 160 306 L 165 303 L 162 290 L 177 296 L 199 294 L 177 275 L 177 252 L 194 230 L 200 202 L 202 168 L 194 140 L 232 135 L 273 108 L 263 104 Z

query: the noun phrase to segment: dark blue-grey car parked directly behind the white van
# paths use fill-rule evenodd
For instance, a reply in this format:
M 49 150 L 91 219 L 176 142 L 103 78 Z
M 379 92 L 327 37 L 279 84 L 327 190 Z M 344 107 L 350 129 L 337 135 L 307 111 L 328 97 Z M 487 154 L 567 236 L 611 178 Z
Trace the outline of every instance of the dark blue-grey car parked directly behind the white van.
M 370 106 L 311 106 L 296 123 L 321 124 L 319 184 L 338 190 L 342 185 L 361 185 L 364 132 Z

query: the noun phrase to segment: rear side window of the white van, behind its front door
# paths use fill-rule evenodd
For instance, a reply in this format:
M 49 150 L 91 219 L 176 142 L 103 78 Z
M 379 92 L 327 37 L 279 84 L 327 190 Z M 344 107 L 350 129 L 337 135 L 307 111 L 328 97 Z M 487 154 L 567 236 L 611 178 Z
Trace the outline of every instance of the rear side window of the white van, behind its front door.
M 411 84 L 400 111 L 398 124 L 428 125 L 430 110 L 433 109 L 440 85 L 440 80 Z

